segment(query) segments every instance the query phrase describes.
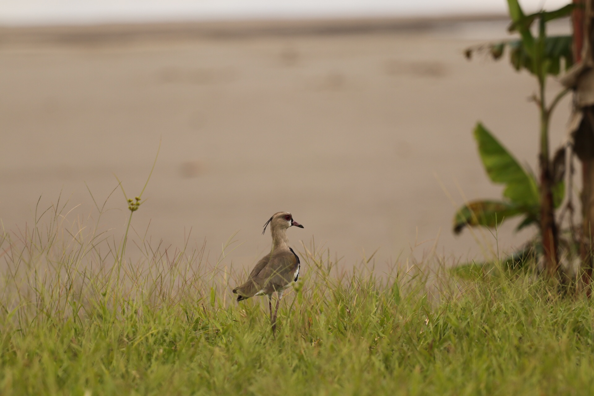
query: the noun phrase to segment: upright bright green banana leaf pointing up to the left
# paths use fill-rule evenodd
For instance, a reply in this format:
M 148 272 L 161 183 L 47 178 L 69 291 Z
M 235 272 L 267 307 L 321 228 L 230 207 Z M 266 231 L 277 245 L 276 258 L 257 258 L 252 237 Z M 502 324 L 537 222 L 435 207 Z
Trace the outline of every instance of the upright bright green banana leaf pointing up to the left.
M 481 123 L 476 125 L 474 135 L 489 179 L 505 185 L 503 196 L 516 206 L 538 212 L 540 197 L 535 178 Z

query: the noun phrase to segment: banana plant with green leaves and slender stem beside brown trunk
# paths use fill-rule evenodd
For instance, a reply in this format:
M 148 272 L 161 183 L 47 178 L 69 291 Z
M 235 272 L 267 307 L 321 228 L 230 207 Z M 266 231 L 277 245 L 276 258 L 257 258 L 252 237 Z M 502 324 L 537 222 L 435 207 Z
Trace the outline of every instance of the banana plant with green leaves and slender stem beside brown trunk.
M 485 51 L 492 58 L 500 59 L 506 47 L 510 52 L 511 65 L 518 71 L 526 70 L 538 81 L 538 92 L 532 97 L 540 112 L 539 131 L 539 175 L 524 169 L 495 140 L 482 125 L 475 129 L 475 138 L 479 142 L 481 158 L 489 178 L 495 183 L 505 185 L 503 201 L 475 201 L 462 207 L 454 217 L 454 232 L 460 232 L 464 226 L 497 226 L 505 218 L 523 215 L 520 228 L 538 223 L 541 231 L 541 245 L 544 251 L 545 268 L 549 275 L 558 273 L 558 228 L 555 221 L 555 208 L 560 204 L 560 182 L 555 182 L 553 162 L 549 157 L 549 122 L 555 106 L 568 93 L 560 91 L 550 104 L 547 103 L 546 81 L 550 75 L 558 75 L 563 69 L 573 64 L 571 37 L 547 36 L 546 23 L 570 15 L 573 4 L 555 11 L 539 11 L 526 15 L 517 0 L 507 0 L 511 24 L 510 33 L 517 32 L 520 39 L 490 43 L 466 50 L 467 58 L 473 52 Z M 538 23 L 538 34 L 533 34 L 532 25 Z M 495 148 L 497 146 L 498 148 Z M 489 154 L 492 151 L 492 155 Z

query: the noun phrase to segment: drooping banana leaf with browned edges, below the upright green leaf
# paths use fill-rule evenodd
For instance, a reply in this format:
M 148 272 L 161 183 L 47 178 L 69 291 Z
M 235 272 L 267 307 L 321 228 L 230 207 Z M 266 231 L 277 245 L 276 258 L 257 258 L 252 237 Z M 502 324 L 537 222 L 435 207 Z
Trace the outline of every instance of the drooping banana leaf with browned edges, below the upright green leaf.
M 454 216 L 454 233 L 466 226 L 495 227 L 510 217 L 523 214 L 522 208 L 503 201 L 472 201 L 463 205 Z

